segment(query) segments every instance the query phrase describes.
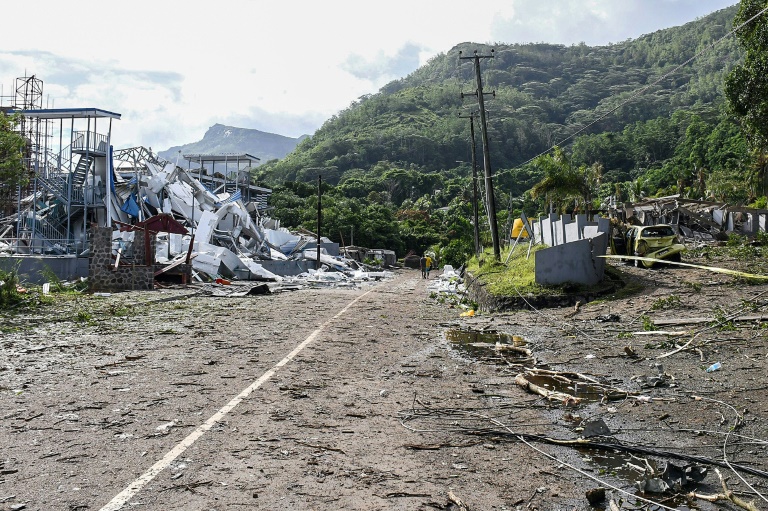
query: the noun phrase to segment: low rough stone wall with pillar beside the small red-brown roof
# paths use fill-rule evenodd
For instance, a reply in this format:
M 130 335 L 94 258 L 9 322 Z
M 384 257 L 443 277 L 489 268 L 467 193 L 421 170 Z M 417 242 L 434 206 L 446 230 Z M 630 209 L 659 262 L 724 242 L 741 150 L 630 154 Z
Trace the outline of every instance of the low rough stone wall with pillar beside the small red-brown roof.
M 91 227 L 91 255 L 88 261 L 88 289 L 91 292 L 139 291 L 154 289 L 154 265 L 144 261 L 144 236 L 137 232 L 133 242 L 134 261 L 125 266 L 112 260 L 112 228 Z M 154 236 L 150 253 L 155 253 Z

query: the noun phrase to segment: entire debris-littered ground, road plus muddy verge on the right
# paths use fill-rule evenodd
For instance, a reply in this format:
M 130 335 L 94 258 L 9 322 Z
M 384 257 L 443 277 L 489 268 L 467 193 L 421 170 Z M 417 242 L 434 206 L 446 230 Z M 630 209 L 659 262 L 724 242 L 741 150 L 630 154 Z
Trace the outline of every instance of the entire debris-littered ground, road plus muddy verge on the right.
M 716 468 L 768 509 L 768 285 L 615 266 L 605 300 L 475 317 L 417 270 L 4 311 L 0 510 L 738 509 L 681 496 L 722 492 Z M 544 370 L 568 396 L 516 383 Z M 553 443 L 583 435 L 599 446 Z M 639 492 L 646 462 L 706 475 Z

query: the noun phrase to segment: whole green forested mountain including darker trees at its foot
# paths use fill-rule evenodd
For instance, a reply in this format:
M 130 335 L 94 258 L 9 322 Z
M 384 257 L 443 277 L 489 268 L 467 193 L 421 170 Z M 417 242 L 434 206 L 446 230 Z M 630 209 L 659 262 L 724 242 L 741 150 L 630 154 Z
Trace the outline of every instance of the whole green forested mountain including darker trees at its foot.
M 286 225 L 314 221 L 312 187 L 302 183 L 321 174 L 339 203 L 349 209 L 359 201 L 363 208 L 330 227 L 331 238 L 342 241 L 342 225 L 362 222 L 365 208 L 378 205 L 387 212 L 380 222 L 393 226 L 379 228 L 370 243 L 445 247 L 459 231 L 466 234 L 463 219 L 469 218 L 467 116 L 478 107 L 472 61 L 459 52 L 477 51 L 493 54 L 481 59 L 481 71 L 500 209 L 512 215 L 543 210 L 543 198 L 530 190 L 548 172 L 541 161 L 548 156 L 541 155 L 555 146 L 568 166 L 590 169 L 582 172 L 589 176 L 585 196 L 593 204 L 582 204 L 588 209 L 611 195 L 627 200 L 640 193 L 754 200 L 758 190 L 735 173 L 744 170 L 749 152 L 723 95 L 725 76 L 742 59 L 737 39 L 728 35 L 737 9 L 608 46 L 459 44 L 359 98 L 254 177 L 275 187 Z M 479 120 L 475 127 L 479 134 Z M 479 135 L 477 144 L 482 167 Z M 461 218 L 440 216 L 440 206 L 458 208 Z M 333 224 L 333 212 L 330 217 Z

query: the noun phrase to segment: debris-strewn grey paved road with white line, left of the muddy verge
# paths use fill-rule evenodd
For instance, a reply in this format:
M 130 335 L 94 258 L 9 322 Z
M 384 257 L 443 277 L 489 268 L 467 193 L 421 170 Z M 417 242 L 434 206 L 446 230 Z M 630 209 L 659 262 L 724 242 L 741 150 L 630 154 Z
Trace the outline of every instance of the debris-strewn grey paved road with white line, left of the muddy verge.
M 448 348 L 459 311 L 426 285 L 403 270 L 361 289 L 127 293 L 10 321 L 0 509 L 439 509 L 451 490 L 510 505 L 508 453 L 400 423 L 494 378 Z

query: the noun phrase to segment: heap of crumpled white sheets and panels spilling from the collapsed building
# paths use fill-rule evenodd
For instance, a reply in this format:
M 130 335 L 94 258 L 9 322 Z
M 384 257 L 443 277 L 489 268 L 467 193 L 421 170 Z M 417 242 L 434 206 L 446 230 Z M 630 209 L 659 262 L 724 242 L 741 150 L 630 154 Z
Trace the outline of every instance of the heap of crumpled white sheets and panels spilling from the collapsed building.
M 318 259 L 316 237 L 281 228 L 278 220 L 260 212 L 257 201 L 244 201 L 240 189 L 226 191 L 224 186 L 220 190 L 211 190 L 209 184 L 200 179 L 202 169 L 197 171 L 196 176 L 195 171 L 159 161 L 144 148 L 118 151 L 115 157 L 128 154 L 131 155 L 133 166 L 118 166 L 118 170 L 111 176 L 113 207 L 107 211 L 111 223 L 121 227 L 120 230 L 112 231 L 115 269 L 119 264 L 135 263 L 135 236 L 142 232 L 137 225 L 168 217 L 184 226 L 185 232 L 150 231 L 155 238 L 153 263 L 169 268 L 187 262 L 191 265 L 192 278 L 197 282 L 211 282 L 217 277 L 281 281 L 286 275 L 303 277 L 309 282 L 327 280 L 327 277 L 316 275 L 312 267 Z M 62 174 L 62 179 L 68 179 L 66 172 Z M 97 177 L 84 181 L 84 193 L 97 186 Z M 84 211 L 59 208 L 62 204 L 58 198 L 44 189 L 23 198 L 21 205 L 23 209 L 19 216 L 33 217 L 41 229 L 27 233 L 26 240 L 11 236 L 17 234 L 17 221 L 15 217 L 7 217 L 4 223 L 0 223 L 0 231 L 7 236 L 7 241 L 0 245 L 0 251 L 66 254 L 70 248 L 76 248 L 45 238 L 45 229 L 42 227 L 61 223 L 63 216 L 67 216 L 72 225 L 80 225 L 83 223 Z M 338 253 L 338 245 L 327 238 L 321 242 L 321 270 L 340 272 L 343 275 L 340 278 L 351 280 L 388 276 L 386 272 L 379 271 L 380 268 L 364 264 L 358 259 L 332 255 L 329 250 Z M 87 255 L 88 250 L 86 248 L 79 255 Z M 356 248 L 354 253 L 360 250 Z M 281 266 L 269 266 L 273 261 L 284 263 Z M 389 259 L 387 262 L 392 264 Z

